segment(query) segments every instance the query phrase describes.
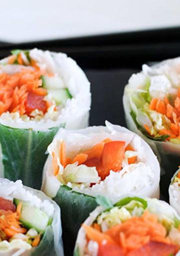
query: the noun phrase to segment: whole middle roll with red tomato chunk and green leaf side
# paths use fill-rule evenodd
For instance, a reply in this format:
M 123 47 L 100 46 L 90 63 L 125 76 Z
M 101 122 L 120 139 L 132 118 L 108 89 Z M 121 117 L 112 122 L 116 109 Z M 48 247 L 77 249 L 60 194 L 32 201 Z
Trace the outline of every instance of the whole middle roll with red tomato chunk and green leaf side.
M 125 193 L 159 195 L 160 168 L 150 147 L 124 127 L 106 122 L 83 130 L 60 129 L 48 147 L 42 190 L 61 208 L 64 248 L 97 205 Z

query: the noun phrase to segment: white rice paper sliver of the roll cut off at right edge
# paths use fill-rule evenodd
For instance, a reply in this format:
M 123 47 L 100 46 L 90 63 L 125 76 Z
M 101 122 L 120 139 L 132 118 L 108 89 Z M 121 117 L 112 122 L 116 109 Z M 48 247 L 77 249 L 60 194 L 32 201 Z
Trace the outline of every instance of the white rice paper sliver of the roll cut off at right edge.
M 180 186 L 178 185 L 178 182 L 173 182 L 175 176 L 180 172 L 180 169 L 178 169 L 172 179 L 171 183 L 169 185 L 169 203 L 170 205 L 177 211 L 177 213 L 180 215 Z

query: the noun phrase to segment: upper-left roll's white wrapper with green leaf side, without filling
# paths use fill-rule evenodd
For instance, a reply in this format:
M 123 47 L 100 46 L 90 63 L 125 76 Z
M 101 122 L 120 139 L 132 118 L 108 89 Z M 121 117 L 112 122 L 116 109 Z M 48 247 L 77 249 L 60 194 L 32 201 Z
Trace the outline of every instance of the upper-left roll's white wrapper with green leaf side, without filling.
M 0 177 L 21 179 L 24 185 L 40 189 L 47 146 L 60 127 L 81 129 L 88 125 L 91 95 L 85 74 L 65 54 L 33 49 L 30 57 L 48 72 L 60 75 L 72 95 L 56 121 L 0 117 Z

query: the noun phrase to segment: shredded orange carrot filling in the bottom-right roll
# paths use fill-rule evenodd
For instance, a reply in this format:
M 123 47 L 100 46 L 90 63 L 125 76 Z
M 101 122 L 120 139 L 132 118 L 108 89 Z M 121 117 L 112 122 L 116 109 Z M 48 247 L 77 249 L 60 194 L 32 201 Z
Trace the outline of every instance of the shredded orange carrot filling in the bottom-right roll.
M 170 244 L 165 227 L 158 222 L 156 215 L 148 210 L 145 210 L 142 216 L 133 216 L 105 232 L 97 230 L 94 224 L 92 227 L 83 224 L 82 227 L 88 239 L 96 241 L 99 245 L 102 241 L 119 245 L 124 252 L 140 248 L 149 241 Z

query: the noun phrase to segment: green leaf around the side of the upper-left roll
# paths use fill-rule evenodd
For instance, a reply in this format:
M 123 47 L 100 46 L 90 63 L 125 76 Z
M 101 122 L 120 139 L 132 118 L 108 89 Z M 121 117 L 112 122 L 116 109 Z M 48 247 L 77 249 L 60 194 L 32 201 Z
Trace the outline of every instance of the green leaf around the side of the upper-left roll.
M 61 124 L 47 131 L 33 131 L 0 124 L 4 178 L 12 181 L 20 179 L 24 185 L 40 189 L 47 146 L 59 127 L 63 126 Z

